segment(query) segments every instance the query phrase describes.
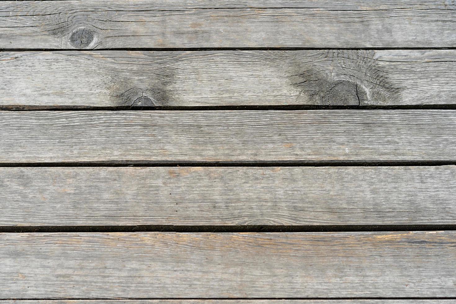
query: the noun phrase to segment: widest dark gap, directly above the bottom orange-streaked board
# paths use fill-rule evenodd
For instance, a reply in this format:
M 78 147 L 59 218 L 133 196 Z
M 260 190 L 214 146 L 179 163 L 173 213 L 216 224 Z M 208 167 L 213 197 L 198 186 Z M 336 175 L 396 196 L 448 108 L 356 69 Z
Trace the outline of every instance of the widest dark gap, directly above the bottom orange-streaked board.
M 135 225 L 135 226 L 2 226 L 0 233 L 30 232 L 400 232 L 449 231 L 454 225 Z

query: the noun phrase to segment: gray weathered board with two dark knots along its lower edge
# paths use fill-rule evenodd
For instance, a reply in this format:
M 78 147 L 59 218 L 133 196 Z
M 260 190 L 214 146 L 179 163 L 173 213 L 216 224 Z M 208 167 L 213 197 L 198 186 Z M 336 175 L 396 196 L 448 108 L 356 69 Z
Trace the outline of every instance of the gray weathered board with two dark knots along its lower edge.
M 455 62 L 455 50 L 0 52 L 0 106 L 448 104 Z

